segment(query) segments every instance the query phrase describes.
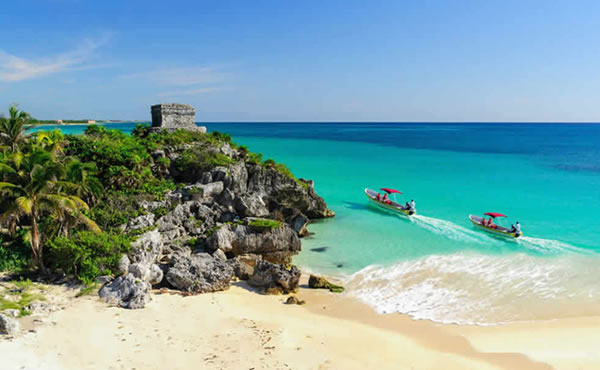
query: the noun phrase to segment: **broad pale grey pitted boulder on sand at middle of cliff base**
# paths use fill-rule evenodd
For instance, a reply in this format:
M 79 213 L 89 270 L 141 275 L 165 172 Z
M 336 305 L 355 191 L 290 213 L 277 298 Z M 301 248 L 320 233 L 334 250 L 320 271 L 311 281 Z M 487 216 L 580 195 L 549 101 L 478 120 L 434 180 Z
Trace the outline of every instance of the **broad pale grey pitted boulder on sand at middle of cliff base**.
M 208 253 L 175 256 L 166 279 L 173 287 L 192 293 L 208 293 L 229 288 L 233 269 L 227 262 Z

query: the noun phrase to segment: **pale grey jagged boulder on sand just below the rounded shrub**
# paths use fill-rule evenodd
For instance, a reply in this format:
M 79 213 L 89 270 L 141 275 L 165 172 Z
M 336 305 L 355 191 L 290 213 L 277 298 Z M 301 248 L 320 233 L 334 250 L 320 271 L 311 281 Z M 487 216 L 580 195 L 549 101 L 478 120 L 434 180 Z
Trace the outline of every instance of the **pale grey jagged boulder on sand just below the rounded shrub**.
M 106 303 L 130 309 L 144 308 L 150 301 L 150 283 L 127 274 L 103 286 L 98 295 Z

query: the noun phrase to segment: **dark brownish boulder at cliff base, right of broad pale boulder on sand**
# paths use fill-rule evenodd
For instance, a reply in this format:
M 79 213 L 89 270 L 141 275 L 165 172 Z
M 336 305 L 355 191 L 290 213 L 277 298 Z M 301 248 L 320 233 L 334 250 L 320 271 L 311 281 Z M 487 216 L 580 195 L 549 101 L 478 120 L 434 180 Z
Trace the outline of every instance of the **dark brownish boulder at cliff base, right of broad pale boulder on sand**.
M 248 284 L 266 294 L 287 294 L 298 290 L 300 270 L 296 266 L 289 269 L 267 261 L 258 261 Z

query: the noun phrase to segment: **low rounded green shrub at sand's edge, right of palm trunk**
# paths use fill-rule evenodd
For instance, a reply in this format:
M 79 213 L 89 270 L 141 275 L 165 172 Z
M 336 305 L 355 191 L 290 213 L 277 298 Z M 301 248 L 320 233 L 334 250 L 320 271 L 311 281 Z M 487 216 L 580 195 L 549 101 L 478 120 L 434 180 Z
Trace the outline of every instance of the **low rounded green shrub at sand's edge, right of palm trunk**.
M 74 274 L 84 284 L 92 284 L 96 277 L 117 271 L 121 255 L 129 251 L 131 241 L 126 235 L 90 231 L 57 237 L 46 243 L 48 266 Z

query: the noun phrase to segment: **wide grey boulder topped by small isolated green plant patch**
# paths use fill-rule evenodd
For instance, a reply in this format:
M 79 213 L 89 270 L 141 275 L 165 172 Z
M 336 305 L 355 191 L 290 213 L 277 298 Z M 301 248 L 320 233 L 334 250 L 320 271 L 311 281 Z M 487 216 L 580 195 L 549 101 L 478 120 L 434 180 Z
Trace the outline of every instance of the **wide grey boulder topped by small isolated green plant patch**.
M 206 247 L 208 250 L 221 249 L 232 256 L 260 254 L 273 263 L 289 263 L 300 251 L 301 243 L 286 224 L 270 229 L 225 224 L 207 239 Z

